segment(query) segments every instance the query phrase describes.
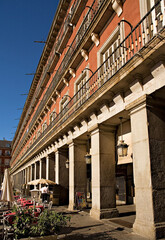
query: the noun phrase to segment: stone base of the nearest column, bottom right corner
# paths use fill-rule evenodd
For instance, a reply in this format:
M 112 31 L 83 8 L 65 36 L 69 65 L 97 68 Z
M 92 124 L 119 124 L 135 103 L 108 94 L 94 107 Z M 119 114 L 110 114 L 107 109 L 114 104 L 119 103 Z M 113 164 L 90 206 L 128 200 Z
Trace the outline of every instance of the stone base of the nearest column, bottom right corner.
M 149 223 L 135 220 L 133 231 L 136 234 L 146 237 L 147 239 L 160 239 L 165 237 L 165 223 Z

